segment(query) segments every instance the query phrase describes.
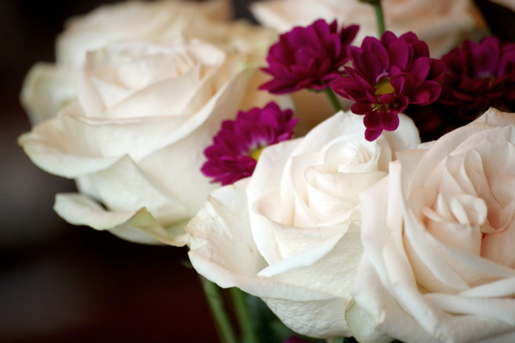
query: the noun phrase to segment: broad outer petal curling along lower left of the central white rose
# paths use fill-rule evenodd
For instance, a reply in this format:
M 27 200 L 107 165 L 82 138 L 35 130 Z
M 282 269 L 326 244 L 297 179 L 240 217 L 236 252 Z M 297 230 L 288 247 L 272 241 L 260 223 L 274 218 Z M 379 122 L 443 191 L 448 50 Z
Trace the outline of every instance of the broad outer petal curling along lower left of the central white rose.
M 263 298 L 287 326 L 307 335 L 348 334 L 344 300 L 256 276 L 266 262 L 250 232 L 245 200 L 247 183 L 248 179 L 243 179 L 213 191 L 208 203 L 188 223 L 186 231 L 192 236 L 189 256 L 197 272 L 221 287 L 237 286 Z M 320 309 L 323 316 L 315 309 Z M 301 328 L 299 323 L 308 324 Z

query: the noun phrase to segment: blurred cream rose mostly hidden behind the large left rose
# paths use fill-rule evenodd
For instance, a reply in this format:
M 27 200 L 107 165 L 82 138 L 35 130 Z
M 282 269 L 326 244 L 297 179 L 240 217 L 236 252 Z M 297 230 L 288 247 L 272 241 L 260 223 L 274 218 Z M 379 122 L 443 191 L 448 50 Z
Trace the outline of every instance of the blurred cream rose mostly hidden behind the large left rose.
M 75 73 L 87 51 L 110 42 L 199 38 L 245 53 L 263 50 L 260 53 L 265 57 L 276 33 L 246 22 L 229 22 L 231 6 L 228 0 L 130 1 L 100 6 L 72 17 L 57 38 L 56 63 L 39 62 L 25 78 L 21 102 L 31 122 L 56 116 L 74 100 Z

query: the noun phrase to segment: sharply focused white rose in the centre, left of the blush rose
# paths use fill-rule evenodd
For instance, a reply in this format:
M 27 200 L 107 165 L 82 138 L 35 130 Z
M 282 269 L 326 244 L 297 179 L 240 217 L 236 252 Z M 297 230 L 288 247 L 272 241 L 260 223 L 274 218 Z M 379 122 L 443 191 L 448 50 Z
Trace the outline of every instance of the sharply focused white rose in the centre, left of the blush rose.
M 221 287 L 261 297 L 294 331 L 349 336 L 345 309 L 362 255 L 358 193 L 415 147 L 401 128 L 373 142 L 360 117 L 339 112 L 305 137 L 263 149 L 250 178 L 221 187 L 188 223 L 191 262 Z

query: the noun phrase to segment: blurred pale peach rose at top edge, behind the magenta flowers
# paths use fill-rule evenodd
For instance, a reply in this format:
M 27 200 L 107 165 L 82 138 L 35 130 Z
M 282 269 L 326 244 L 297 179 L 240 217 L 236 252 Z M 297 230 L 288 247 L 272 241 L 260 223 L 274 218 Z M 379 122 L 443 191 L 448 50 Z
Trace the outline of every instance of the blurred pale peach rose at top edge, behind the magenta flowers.
M 386 29 L 397 35 L 413 31 L 427 43 L 431 57 L 440 58 L 478 26 L 480 14 L 470 0 L 382 0 Z M 252 14 L 265 26 L 281 32 L 306 26 L 316 19 L 358 24 L 353 45 L 377 37 L 372 6 L 358 0 L 268 0 L 256 2 Z

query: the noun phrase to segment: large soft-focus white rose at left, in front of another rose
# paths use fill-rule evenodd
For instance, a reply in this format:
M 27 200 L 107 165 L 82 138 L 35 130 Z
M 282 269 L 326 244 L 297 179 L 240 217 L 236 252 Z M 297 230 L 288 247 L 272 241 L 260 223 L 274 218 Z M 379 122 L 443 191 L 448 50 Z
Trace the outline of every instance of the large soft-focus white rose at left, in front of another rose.
M 202 151 L 223 120 L 270 101 L 248 62 L 197 40 L 90 51 L 77 101 L 19 139 L 37 166 L 76 178 L 80 193 L 58 194 L 58 214 L 130 241 L 186 244 L 183 226 L 215 187 Z

